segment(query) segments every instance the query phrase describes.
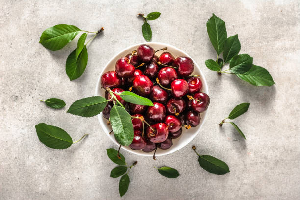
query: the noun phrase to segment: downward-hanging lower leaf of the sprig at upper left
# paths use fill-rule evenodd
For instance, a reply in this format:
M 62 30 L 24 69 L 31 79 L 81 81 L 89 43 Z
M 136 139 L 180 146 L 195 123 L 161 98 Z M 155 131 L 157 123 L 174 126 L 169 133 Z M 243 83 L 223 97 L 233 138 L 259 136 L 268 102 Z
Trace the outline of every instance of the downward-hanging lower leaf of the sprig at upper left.
M 88 54 L 86 46 L 83 47 L 83 50 L 76 59 L 76 50 L 74 50 L 67 58 L 66 61 L 66 73 L 70 80 L 75 80 L 79 78 L 87 65 Z

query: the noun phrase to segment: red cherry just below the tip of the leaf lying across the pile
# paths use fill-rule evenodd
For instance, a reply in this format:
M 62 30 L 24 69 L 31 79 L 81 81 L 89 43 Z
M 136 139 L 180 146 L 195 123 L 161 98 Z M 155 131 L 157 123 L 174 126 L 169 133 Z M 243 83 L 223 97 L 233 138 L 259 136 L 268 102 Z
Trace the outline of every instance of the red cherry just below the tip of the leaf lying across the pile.
M 154 106 L 149 106 L 146 117 L 152 122 L 162 122 L 166 117 L 166 108 L 163 104 L 154 102 Z

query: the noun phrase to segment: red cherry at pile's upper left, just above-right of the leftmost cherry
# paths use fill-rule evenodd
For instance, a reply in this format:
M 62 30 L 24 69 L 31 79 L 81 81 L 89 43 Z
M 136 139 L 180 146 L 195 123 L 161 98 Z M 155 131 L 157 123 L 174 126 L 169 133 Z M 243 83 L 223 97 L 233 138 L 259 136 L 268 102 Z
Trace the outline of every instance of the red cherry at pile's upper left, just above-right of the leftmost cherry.
M 115 65 L 115 71 L 119 77 L 129 78 L 134 74 L 135 67 L 128 63 L 129 59 L 126 57 L 119 58 Z

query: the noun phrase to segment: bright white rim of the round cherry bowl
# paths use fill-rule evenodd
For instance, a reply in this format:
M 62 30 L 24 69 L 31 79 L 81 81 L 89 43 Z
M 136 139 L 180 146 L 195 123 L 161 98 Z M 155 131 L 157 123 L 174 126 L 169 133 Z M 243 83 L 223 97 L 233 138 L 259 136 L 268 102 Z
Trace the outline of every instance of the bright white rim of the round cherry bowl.
M 115 55 L 114 55 L 114 56 L 106 63 L 106 65 L 105 65 L 104 68 L 101 70 L 101 73 L 100 73 L 100 75 L 99 75 L 99 77 L 98 77 L 98 79 L 97 79 L 96 88 L 95 88 L 95 95 L 96 95 L 96 96 L 98 96 L 98 91 L 99 91 L 99 85 L 100 85 L 100 82 L 101 82 L 101 77 L 102 77 L 103 73 L 106 72 L 106 68 L 108 68 L 109 65 L 111 65 L 110 63 L 111 63 L 114 59 L 116 59 L 116 57 L 117 57 L 119 54 L 121 54 L 121 53 L 123 53 L 123 52 L 125 52 L 125 51 L 129 51 L 130 49 L 132 49 L 132 48 L 134 48 L 134 47 L 136 47 L 136 46 L 143 45 L 143 44 L 147 44 L 147 45 L 149 45 L 149 46 L 151 46 L 151 44 L 154 44 L 154 45 L 161 45 L 161 46 L 171 47 L 171 48 L 173 48 L 173 49 L 175 49 L 175 50 L 177 50 L 177 51 L 179 51 L 179 52 L 185 54 L 185 56 L 191 58 L 192 61 L 193 61 L 193 63 L 194 63 L 194 67 L 196 67 L 196 68 L 199 70 L 199 72 L 200 72 L 201 79 L 203 80 L 203 81 L 202 81 L 202 82 L 203 82 L 203 88 L 205 87 L 205 91 L 206 91 L 205 93 L 206 93 L 207 95 L 209 95 L 208 85 L 207 85 L 207 81 L 206 81 L 206 79 L 205 79 L 205 76 L 204 76 L 202 70 L 200 69 L 199 65 L 195 62 L 195 60 L 194 60 L 189 54 L 187 54 L 185 51 L 183 51 L 183 50 L 181 50 L 181 49 L 179 49 L 179 48 L 177 48 L 177 47 L 175 47 L 175 46 L 173 46 L 173 45 L 167 44 L 167 43 L 162 43 L 162 42 L 143 42 L 143 43 L 137 43 L 137 44 L 131 45 L 131 46 L 129 46 L 129 47 L 127 47 L 127 48 L 125 48 L 125 49 L 119 51 L 118 53 L 116 53 L 116 54 L 115 54 Z M 186 142 L 185 145 L 182 145 L 182 147 L 180 147 L 180 148 L 178 148 L 178 149 L 175 149 L 175 150 L 170 150 L 170 151 L 166 151 L 166 152 L 162 152 L 162 153 L 157 153 L 157 154 L 155 154 L 155 156 L 158 157 L 158 156 L 163 156 L 163 155 L 168 155 L 168 154 L 170 154 L 170 153 L 174 153 L 174 152 L 176 152 L 177 150 L 180 150 L 180 149 L 182 149 L 183 147 L 185 147 L 186 145 L 188 145 L 192 140 L 194 140 L 194 138 L 198 135 L 198 133 L 200 132 L 200 130 L 201 130 L 201 128 L 202 128 L 202 126 L 203 126 L 203 124 L 204 124 L 204 122 L 205 122 L 205 118 L 206 118 L 206 115 L 207 115 L 207 111 L 208 111 L 208 109 L 203 113 L 203 115 L 201 115 L 201 121 L 202 121 L 202 123 L 200 124 L 200 126 L 198 127 L 198 129 L 196 130 L 196 132 L 195 132 L 193 135 L 191 135 L 191 139 L 190 139 L 188 142 Z M 109 132 L 105 131 L 105 129 L 102 127 L 102 125 L 103 125 L 103 122 L 102 122 L 103 116 L 101 115 L 101 113 L 97 115 L 97 118 L 98 118 L 98 121 L 99 121 L 99 123 L 100 123 L 100 125 L 101 125 L 102 130 L 106 133 L 106 135 L 109 137 L 109 139 L 112 140 L 113 143 L 115 143 L 117 146 L 119 146 L 120 144 L 119 144 L 116 140 L 112 139 L 112 138 L 110 137 L 110 135 L 109 135 Z M 133 153 L 133 154 L 136 154 L 136 155 L 142 155 L 142 156 L 148 156 L 148 157 L 152 157 L 152 156 L 153 156 L 152 153 L 146 153 L 146 152 L 143 152 L 143 151 L 142 151 L 142 152 L 143 152 L 143 153 L 142 153 L 142 152 L 140 152 L 140 150 L 138 151 L 138 150 L 126 149 L 124 146 L 121 146 L 121 148 L 122 148 L 123 150 L 128 151 L 129 153 Z

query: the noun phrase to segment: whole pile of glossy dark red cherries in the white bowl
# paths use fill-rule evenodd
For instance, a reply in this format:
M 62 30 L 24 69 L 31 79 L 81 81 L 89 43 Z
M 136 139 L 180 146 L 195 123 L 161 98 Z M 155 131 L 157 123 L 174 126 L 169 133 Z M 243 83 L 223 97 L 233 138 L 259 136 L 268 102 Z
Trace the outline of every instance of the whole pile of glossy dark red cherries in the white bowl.
M 126 103 L 116 95 L 127 111 L 137 117 L 132 118 L 134 139 L 130 148 L 133 150 L 151 152 L 157 147 L 170 148 L 172 139 L 182 134 L 182 127 L 189 129 L 200 123 L 199 113 L 204 112 L 210 102 L 209 96 L 201 92 L 199 75 L 190 76 L 194 71 L 191 58 L 175 59 L 169 52 L 158 57 L 157 51 L 149 45 L 140 45 L 132 54 L 117 60 L 115 71 L 101 77 L 104 89 L 110 88 L 115 93 L 130 90 L 153 101 L 154 106 L 137 105 Z M 105 98 L 111 98 L 107 90 Z M 109 102 L 102 112 L 106 119 L 112 106 Z M 146 123 L 145 134 L 143 122 Z

